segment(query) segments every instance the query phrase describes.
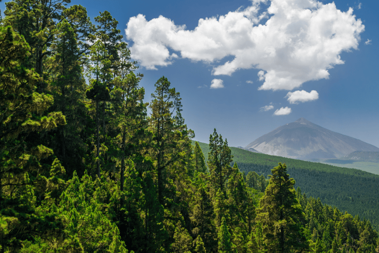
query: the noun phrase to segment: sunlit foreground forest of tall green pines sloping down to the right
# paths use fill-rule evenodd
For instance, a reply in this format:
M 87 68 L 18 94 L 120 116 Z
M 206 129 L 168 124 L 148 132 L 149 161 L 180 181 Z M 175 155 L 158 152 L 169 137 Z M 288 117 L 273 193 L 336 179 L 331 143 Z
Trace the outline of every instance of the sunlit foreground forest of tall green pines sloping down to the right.
M 5 5 L 0 253 L 379 253 L 368 219 L 295 190 L 285 161 L 243 174 L 216 129 L 205 160 L 167 78 L 144 102 L 108 11 Z

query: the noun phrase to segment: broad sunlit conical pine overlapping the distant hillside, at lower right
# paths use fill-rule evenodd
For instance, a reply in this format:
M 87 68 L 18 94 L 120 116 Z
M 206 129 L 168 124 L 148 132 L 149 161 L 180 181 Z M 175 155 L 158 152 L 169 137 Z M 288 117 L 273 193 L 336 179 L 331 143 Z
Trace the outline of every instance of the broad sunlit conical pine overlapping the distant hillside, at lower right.
M 267 250 L 272 253 L 303 251 L 308 244 L 304 235 L 304 213 L 296 199 L 295 180 L 289 178 L 285 164 L 279 163 L 271 172 L 257 210 Z

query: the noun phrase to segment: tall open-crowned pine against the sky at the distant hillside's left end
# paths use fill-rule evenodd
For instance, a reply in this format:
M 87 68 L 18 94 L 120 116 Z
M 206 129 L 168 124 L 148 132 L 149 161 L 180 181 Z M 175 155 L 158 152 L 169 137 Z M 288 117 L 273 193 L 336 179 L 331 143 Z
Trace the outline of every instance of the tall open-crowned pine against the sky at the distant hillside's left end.
M 158 200 L 163 205 L 166 169 L 174 162 L 186 159 L 191 148 L 189 138 L 194 134 L 184 125 L 180 93 L 170 88 L 170 82 L 165 77 L 161 77 L 155 87 L 150 104 L 150 124 L 154 135 L 152 155 L 156 159 Z

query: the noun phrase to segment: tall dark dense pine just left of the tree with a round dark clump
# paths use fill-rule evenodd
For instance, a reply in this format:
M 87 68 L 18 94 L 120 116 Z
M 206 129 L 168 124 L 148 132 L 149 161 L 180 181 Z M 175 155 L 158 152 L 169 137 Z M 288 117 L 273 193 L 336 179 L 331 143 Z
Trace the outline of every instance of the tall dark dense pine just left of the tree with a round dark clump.
M 86 149 L 81 136 L 86 125 L 86 108 L 82 102 L 85 98 L 85 82 L 80 67 L 81 55 L 75 30 L 66 19 L 57 25 L 54 35 L 55 40 L 50 46 L 53 55 L 46 61 L 51 81 L 46 90 L 54 96 L 54 105 L 50 111 L 62 112 L 67 125 L 54 131 L 50 147 L 62 163 L 70 168 L 70 175 L 73 172 L 71 168 L 76 168 L 81 174 L 84 168 L 79 158 L 85 155 Z

